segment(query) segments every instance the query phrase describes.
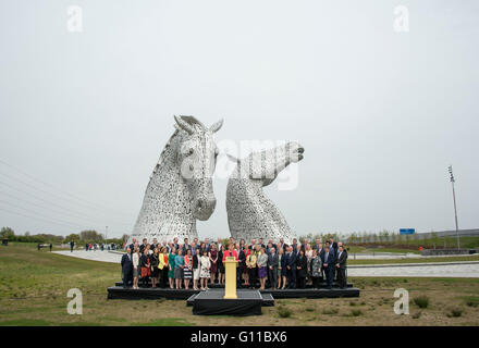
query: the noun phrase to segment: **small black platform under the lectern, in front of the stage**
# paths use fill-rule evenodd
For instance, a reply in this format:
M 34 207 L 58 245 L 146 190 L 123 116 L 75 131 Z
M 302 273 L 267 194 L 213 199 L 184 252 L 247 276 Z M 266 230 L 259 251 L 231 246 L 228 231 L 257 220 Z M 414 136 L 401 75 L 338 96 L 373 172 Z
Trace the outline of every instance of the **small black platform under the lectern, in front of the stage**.
M 193 314 L 260 315 L 261 306 L 267 302 L 258 290 L 237 290 L 235 299 L 225 299 L 223 296 L 224 289 L 210 289 L 191 297 L 188 302 L 193 304 Z

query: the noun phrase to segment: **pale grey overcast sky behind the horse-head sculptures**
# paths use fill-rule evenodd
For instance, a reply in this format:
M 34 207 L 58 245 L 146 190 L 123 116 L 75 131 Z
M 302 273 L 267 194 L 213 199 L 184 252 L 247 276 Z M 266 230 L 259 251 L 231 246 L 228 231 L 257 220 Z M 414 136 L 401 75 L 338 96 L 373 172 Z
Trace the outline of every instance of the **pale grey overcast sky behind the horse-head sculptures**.
M 224 117 L 218 141 L 304 146 L 296 189 L 266 188 L 298 235 L 453 229 L 450 164 L 459 228 L 479 227 L 478 38 L 474 0 L 3 0 L 0 226 L 130 233 L 192 114 Z M 213 185 L 200 237 L 229 236 Z

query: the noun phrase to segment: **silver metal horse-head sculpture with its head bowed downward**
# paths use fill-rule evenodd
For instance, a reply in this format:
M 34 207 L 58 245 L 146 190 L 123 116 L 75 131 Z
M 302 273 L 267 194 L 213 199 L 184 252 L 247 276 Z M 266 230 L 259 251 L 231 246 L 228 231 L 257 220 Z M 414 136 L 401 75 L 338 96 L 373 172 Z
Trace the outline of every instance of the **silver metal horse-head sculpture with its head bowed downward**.
M 212 190 L 217 146 L 213 133 L 223 121 L 207 128 L 193 116 L 175 116 L 170 137 L 150 175 L 132 238 L 172 240 L 195 238 L 196 220 L 214 211 Z

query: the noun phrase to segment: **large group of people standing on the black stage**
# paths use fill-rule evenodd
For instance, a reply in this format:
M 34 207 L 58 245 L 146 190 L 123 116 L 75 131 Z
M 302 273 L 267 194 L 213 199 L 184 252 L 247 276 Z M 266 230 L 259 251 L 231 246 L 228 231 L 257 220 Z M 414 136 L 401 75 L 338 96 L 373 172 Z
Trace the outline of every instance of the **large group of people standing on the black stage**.
M 123 286 L 139 285 L 152 287 L 170 287 L 172 289 L 195 290 L 209 289 L 211 284 L 224 285 L 224 261 L 234 257 L 238 262 L 236 281 L 241 287 L 263 290 L 305 288 L 307 285 L 319 289 L 326 282 L 327 288 L 332 288 L 336 281 L 339 287 L 345 288 L 347 251 L 341 241 L 333 238 L 324 241 L 316 239 L 315 244 L 305 239 L 299 244 L 296 238 L 287 245 L 281 238 L 278 243 L 272 239 L 263 244 L 262 238 L 244 239 L 235 243 L 230 238 L 228 245 L 219 238 L 210 243 L 209 238 L 191 244 L 179 238 L 161 244 L 153 238 L 149 244 L 146 238 L 142 244 L 133 238 L 122 257 Z

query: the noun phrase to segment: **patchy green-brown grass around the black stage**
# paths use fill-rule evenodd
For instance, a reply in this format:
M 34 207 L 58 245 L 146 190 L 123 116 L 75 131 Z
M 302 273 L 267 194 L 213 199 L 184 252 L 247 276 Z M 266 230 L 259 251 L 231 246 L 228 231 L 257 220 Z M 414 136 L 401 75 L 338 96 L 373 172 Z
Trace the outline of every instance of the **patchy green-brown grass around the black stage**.
M 0 325 L 479 325 L 476 278 L 351 278 L 359 298 L 279 299 L 263 315 L 233 318 L 193 315 L 184 300 L 107 300 L 120 277 L 116 264 L 0 247 Z M 400 287 L 409 290 L 410 315 L 394 314 Z M 66 313 L 70 288 L 83 291 L 83 315 Z M 421 296 L 426 308 L 415 302 Z

